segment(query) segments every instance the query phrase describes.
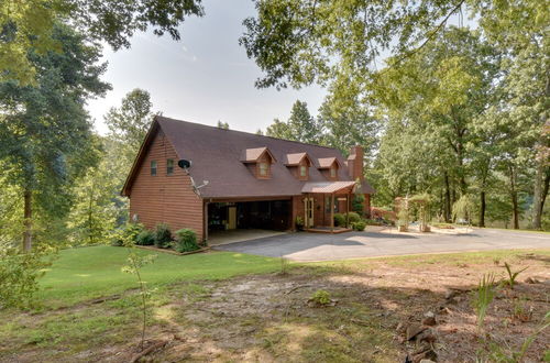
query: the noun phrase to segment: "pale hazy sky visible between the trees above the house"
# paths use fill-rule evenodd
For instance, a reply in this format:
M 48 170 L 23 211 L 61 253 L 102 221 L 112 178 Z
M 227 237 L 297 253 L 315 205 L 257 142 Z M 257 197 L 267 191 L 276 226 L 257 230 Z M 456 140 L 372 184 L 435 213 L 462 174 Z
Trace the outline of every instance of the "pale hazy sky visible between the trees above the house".
M 207 0 L 205 10 L 204 18 L 185 21 L 179 42 L 147 32 L 135 34 L 130 50 L 105 48 L 109 66 L 103 79 L 113 89 L 87 107 L 99 132 L 107 130 L 103 114 L 109 108 L 138 87 L 151 92 L 154 110 L 166 117 L 210 125 L 221 120 L 233 130 L 255 132 L 274 118 L 286 120 L 297 99 L 317 114 L 326 94 L 319 87 L 254 88 L 262 73 L 239 45 L 242 21 L 254 14 L 252 1 Z

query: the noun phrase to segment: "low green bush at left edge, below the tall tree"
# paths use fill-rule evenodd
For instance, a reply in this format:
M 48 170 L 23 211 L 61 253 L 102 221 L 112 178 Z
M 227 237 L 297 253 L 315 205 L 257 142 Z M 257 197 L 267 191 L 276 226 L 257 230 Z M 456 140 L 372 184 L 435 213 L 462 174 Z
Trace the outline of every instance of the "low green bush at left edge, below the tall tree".
M 38 279 L 51 265 L 45 251 L 21 253 L 20 249 L 0 243 L 0 309 L 34 305 Z

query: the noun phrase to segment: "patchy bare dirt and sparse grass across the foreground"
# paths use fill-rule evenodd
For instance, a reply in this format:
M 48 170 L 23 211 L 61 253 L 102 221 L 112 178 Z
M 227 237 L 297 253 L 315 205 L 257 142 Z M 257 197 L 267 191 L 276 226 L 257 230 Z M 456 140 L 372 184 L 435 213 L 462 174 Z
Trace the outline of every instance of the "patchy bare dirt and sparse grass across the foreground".
M 514 271 L 528 270 L 514 289 L 497 288 L 480 330 L 472 290 L 483 274 L 504 278 L 505 261 Z M 141 361 L 404 362 L 408 355 L 413 361 L 472 362 L 507 354 L 520 349 L 550 310 L 549 265 L 548 252 L 435 255 L 174 285 L 152 309 L 146 346 L 158 349 Z M 334 304 L 308 304 L 318 290 L 328 292 Z M 99 306 L 90 309 L 97 312 Z M 124 314 L 109 302 L 103 307 L 114 316 Z M 408 337 L 415 329 L 420 331 Z M 131 361 L 138 330 L 109 341 L 118 333 L 113 326 L 102 344 L 90 342 L 85 349 L 64 342 L 65 352 L 53 345 L 38 351 L 12 340 L 6 350 L 11 354 L 0 351 L 0 360 Z M 543 361 L 549 341 L 550 331 L 540 332 L 525 361 Z

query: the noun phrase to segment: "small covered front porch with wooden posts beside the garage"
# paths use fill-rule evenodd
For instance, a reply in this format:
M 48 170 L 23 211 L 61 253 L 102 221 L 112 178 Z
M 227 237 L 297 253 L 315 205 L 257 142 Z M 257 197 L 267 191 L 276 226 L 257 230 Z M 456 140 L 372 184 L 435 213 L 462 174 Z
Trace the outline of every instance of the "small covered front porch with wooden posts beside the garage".
M 306 183 L 301 190 L 304 198 L 304 230 L 312 233 L 343 233 L 351 231 L 350 209 L 355 182 Z M 323 208 L 316 209 L 316 200 L 322 198 Z M 343 226 L 334 226 L 334 211 L 344 216 Z M 319 218 L 319 212 L 323 218 Z

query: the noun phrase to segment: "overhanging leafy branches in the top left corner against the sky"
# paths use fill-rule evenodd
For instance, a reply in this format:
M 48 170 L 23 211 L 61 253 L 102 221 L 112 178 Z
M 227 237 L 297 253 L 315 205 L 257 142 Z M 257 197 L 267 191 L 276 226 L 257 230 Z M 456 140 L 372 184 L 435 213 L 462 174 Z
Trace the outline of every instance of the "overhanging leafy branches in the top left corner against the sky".
M 0 2 L 0 81 L 34 81 L 38 69 L 29 50 L 61 50 L 56 22 L 74 24 L 88 41 L 105 41 L 114 50 L 130 47 L 136 31 L 153 28 L 179 40 L 179 25 L 187 16 L 201 16 L 201 0 L 4 0 Z

